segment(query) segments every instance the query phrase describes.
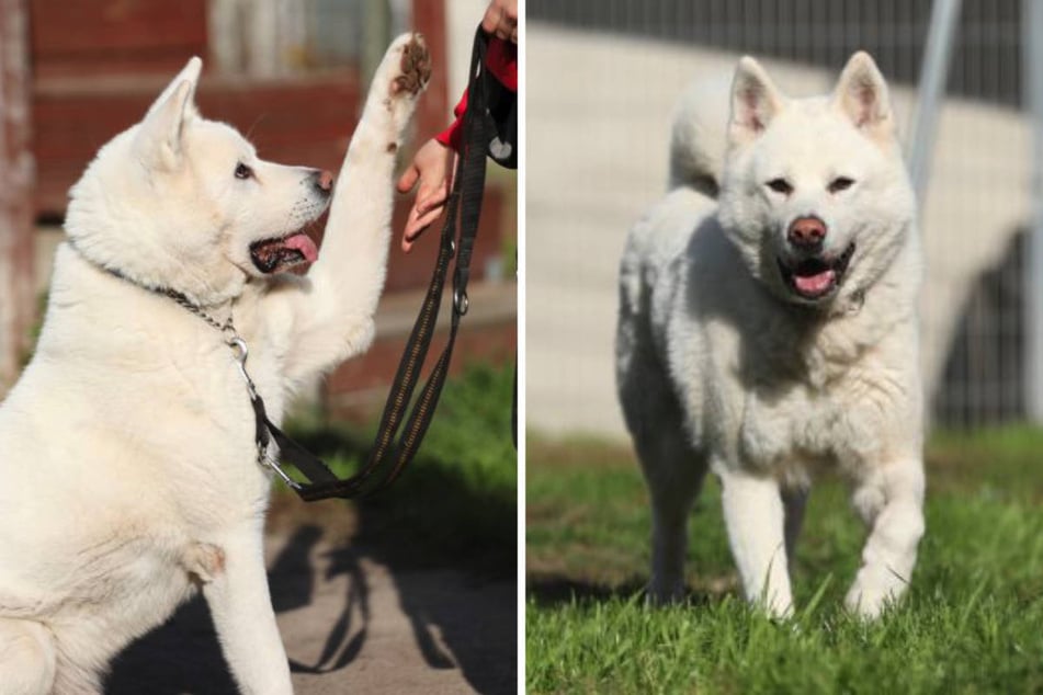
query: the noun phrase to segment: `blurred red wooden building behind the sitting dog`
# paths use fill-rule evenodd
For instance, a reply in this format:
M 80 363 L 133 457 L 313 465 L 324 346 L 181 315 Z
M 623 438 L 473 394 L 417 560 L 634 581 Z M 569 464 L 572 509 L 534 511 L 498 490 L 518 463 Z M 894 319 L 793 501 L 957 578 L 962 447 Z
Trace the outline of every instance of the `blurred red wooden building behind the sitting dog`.
M 98 148 L 140 119 L 190 56 L 204 59 L 203 114 L 248 134 L 269 160 L 337 172 L 390 37 L 422 32 L 434 73 L 404 156 L 449 125 L 487 3 L 455 0 L 4 0 L 0 3 L 0 386 L 31 348 L 69 186 Z M 405 163 L 405 161 L 403 162 Z M 473 311 L 454 364 L 513 363 L 515 179 L 490 167 L 473 265 Z M 437 254 L 398 237 L 373 351 L 322 386 L 331 412 L 383 405 Z M 438 227 L 438 225 L 435 225 Z

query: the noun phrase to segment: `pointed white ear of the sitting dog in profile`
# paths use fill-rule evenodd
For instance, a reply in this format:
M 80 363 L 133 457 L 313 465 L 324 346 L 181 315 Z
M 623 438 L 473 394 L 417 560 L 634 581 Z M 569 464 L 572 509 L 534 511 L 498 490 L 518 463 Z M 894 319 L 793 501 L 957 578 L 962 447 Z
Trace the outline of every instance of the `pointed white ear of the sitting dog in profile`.
M 135 149 L 146 166 L 172 170 L 180 164 L 184 124 L 199 116 L 195 86 L 202 67 L 199 58 L 189 60 L 145 114 Z

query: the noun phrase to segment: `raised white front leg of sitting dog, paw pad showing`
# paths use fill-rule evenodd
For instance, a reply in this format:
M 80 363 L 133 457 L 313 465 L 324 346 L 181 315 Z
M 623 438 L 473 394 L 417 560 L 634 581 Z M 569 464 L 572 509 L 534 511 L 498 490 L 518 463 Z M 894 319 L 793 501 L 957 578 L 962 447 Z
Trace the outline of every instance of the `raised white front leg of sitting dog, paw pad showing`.
M 384 287 L 396 152 L 430 77 L 419 34 L 392 43 L 373 78 L 362 119 L 338 176 L 319 260 L 295 297 L 291 379 L 306 378 L 365 350 Z

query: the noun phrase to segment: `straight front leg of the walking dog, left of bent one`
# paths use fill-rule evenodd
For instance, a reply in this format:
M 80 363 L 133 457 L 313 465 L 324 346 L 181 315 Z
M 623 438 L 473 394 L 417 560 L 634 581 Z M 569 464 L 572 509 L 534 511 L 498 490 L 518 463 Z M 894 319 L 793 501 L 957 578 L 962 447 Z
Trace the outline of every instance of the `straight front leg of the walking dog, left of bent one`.
M 770 476 L 715 466 L 732 554 L 747 600 L 774 616 L 792 609 L 785 520 L 779 482 Z

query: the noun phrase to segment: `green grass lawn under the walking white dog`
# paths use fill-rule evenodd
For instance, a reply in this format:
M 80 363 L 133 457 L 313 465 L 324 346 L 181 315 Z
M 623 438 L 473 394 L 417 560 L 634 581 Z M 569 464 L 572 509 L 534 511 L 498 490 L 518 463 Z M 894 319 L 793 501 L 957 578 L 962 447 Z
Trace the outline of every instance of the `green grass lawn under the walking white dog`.
M 528 446 L 533 693 L 1043 693 L 1043 432 L 939 434 L 906 601 L 847 615 L 864 531 L 820 476 L 792 568 L 797 612 L 740 599 L 716 481 L 690 523 L 685 605 L 646 608 L 649 509 L 630 449 Z

